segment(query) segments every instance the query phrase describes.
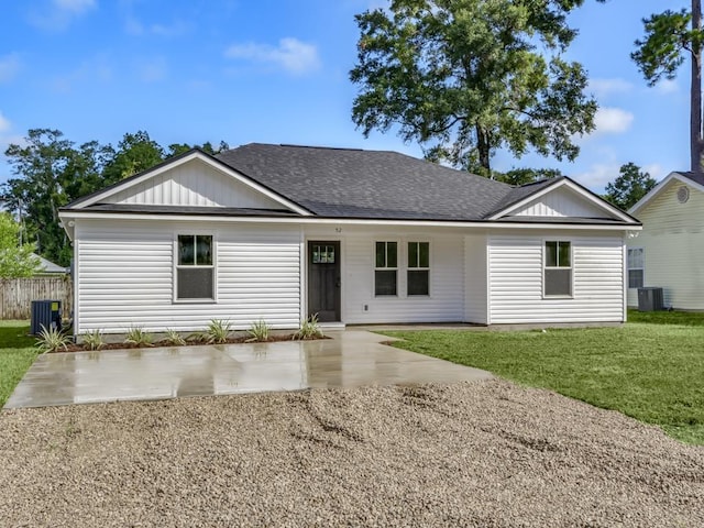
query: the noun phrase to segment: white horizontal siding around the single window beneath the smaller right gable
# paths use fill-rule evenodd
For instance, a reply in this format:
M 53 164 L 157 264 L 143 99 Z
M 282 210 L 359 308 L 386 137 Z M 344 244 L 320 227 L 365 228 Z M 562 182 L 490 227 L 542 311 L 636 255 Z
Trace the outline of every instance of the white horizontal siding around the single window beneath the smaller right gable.
M 622 237 L 560 233 L 572 243 L 571 298 L 543 297 L 543 239 L 528 233 L 490 237 L 490 322 L 608 322 L 624 320 Z

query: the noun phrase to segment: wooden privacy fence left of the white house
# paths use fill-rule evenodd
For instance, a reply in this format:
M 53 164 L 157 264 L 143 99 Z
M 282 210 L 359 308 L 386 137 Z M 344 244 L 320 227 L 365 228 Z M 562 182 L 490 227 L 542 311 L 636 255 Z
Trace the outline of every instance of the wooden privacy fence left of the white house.
M 0 279 L 0 319 L 30 319 L 32 301 L 42 299 L 61 300 L 62 316 L 69 318 L 73 292 L 68 275 Z

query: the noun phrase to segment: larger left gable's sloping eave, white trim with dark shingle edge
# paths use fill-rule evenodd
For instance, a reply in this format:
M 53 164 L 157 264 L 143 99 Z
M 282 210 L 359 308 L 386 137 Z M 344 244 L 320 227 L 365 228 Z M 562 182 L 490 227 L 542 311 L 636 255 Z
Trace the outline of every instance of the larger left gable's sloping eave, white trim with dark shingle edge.
M 302 215 L 302 216 L 310 216 L 312 215 L 311 211 L 309 211 L 307 208 L 294 202 L 293 200 L 286 198 L 285 196 L 282 196 L 280 194 L 276 193 L 275 190 L 268 188 L 265 185 L 262 185 L 260 182 L 256 182 L 254 179 L 252 179 L 250 176 L 248 176 L 246 174 L 243 174 L 241 170 L 238 170 L 233 167 L 231 167 L 230 165 L 228 165 L 227 163 L 221 162 L 220 160 L 218 160 L 215 156 L 211 156 L 210 154 L 208 154 L 207 152 L 201 151 L 200 148 L 191 148 L 188 152 L 185 152 L 183 154 L 179 154 L 177 156 L 174 156 L 172 158 L 168 158 L 162 163 L 160 163 L 158 165 L 155 165 L 146 170 L 143 170 L 142 173 L 135 174 L 133 176 L 130 176 L 129 178 L 125 178 L 121 182 L 118 182 L 113 185 L 110 185 L 108 187 L 105 187 L 100 190 L 97 190 L 96 193 L 92 193 L 90 195 L 87 195 L 82 198 L 79 198 L 77 200 L 74 200 L 73 202 L 68 204 L 67 206 L 64 207 L 64 210 L 77 210 L 77 209 L 84 209 L 88 206 L 91 206 L 94 204 L 97 204 L 101 200 L 105 200 L 107 197 L 114 195 L 116 193 L 120 193 L 124 189 L 129 189 L 130 187 L 138 185 L 146 179 L 150 179 L 158 174 L 162 174 L 173 167 L 176 167 L 178 165 L 182 165 L 184 163 L 190 162 L 193 160 L 200 160 L 204 163 L 209 164 L 210 166 L 212 166 L 215 169 L 223 172 L 226 174 L 228 174 L 229 176 L 238 179 L 239 182 L 243 183 L 244 185 L 249 186 L 250 188 L 267 196 L 268 198 L 273 199 L 274 201 L 280 204 L 282 206 L 297 212 L 298 215 Z

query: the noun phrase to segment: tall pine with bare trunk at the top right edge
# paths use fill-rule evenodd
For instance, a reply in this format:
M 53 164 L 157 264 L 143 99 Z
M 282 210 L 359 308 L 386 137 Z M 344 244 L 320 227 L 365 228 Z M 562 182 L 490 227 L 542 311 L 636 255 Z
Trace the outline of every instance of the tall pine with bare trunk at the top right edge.
M 702 0 L 692 0 L 692 10 L 667 10 L 644 19 L 646 36 L 636 41 L 630 54 L 648 85 L 662 78 L 674 79 L 689 56 L 690 87 L 690 169 L 702 172 L 704 139 L 702 136 Z

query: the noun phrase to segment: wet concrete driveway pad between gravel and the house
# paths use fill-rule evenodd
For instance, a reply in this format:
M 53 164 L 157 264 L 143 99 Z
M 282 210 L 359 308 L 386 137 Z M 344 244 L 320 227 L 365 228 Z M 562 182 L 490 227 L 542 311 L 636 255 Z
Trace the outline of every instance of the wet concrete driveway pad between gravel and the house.
M 492 377 L 381 344 L 389 338 L 372 332 L 331 331 L 328 337 L 332 339 L 43 354 L 4 408 Z

